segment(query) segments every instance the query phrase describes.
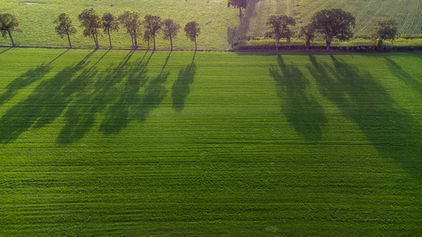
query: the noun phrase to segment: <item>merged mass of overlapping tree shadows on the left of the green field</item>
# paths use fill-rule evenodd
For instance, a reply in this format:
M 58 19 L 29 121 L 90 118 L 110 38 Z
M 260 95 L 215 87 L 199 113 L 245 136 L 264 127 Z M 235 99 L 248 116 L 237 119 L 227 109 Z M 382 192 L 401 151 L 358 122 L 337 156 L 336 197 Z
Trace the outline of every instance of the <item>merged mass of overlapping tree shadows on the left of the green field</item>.
M 160 75 L 148 83 L 146 66 L 153 53 L 146 57 L 147 51 L 140 60 L 129 62 L 134 53 L 129 51 L 117 66 L 110 65 L 107 70 L 98 72 L 95 67 L 108 51 L 95 63 L 87 63 L 94 52 L 76 65 L 69 65 L 44 79 L 24 101 L 8 109 L 0 118 L 0 143 L 14 141 L 28 129 L 44 127 L 60 116 L 64 125 L 56 139 L 59 144 L 74 143 L 86 136 L 96 124 L 99 113 L 104 116 L 100 132 L 115 134 L 131 121 L 145 121 L 167 96 L 165 82 L 170 72 L 165 72 L 165 66 L 170 55 Z M 11 82 L 0 97 L 2 103 L 13 98 L 19 89 L 44 77 L 51 71 L 49 64 L 28 70 Z

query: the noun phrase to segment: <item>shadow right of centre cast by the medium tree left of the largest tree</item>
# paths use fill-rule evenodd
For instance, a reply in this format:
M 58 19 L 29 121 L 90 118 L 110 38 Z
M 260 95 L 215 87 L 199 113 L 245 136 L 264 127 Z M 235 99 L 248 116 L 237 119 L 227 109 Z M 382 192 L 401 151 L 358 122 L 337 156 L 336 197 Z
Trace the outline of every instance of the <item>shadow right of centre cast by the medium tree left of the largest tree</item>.
M 277 95 L 284 103 L 283 115 L 307 141 L 321 140 L 322 128 L 327 122 L 324 108 L 307 93 L 309 81 L 302 71 L 284 63 L 281 56 L 277 59 L 278 68 L 271 65 L 269 75 L 276 81 Z

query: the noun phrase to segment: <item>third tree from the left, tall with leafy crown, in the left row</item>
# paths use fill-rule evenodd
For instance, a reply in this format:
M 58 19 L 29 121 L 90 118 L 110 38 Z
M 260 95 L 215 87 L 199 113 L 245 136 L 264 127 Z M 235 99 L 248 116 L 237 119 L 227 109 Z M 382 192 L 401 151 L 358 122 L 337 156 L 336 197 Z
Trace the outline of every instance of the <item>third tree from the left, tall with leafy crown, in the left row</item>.
M 84 37 L 92 37 L 96 49 L 100 46 L 98 45 L 98 34 L 101 34 L 101 20 L 94 8 L 87 8 L 78 16 L 81 26 L 85 27 Z

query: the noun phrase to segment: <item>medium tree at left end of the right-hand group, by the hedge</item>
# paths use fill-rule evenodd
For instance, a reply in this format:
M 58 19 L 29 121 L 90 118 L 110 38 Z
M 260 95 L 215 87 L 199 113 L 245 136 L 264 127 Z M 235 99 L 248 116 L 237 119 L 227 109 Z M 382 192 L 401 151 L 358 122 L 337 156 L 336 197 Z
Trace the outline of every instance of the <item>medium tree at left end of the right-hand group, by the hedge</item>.
M 289 26 L 296 25 L 296 21 L 295 18 L 287 15 L 271 15 L 267 21 L 267 25 L 269 25 L 271 30 L 265 36 L 275 38 L 277 42 L 276 50 L 279 50 L 281 38 L 286 38 L 287 41 L 290 41 L 293 31 Z

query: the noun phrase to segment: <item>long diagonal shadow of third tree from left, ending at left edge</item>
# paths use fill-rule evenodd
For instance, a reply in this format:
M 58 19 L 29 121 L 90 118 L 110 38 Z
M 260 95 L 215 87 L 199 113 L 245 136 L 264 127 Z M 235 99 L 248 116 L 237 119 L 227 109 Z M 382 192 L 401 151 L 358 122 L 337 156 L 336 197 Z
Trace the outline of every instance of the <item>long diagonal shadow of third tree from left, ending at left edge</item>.
M 91 52 L 77 65 L 63 68 L 51 79 L 42 81 L 24 101 L 6 111 L 0 119 L 0 143 L 14 141 L 30 127 L 44 127 L 68 107 L 75 91 L 84 89 L 84 70 Z M 86 72 L 82 72 L 84 75 Z

